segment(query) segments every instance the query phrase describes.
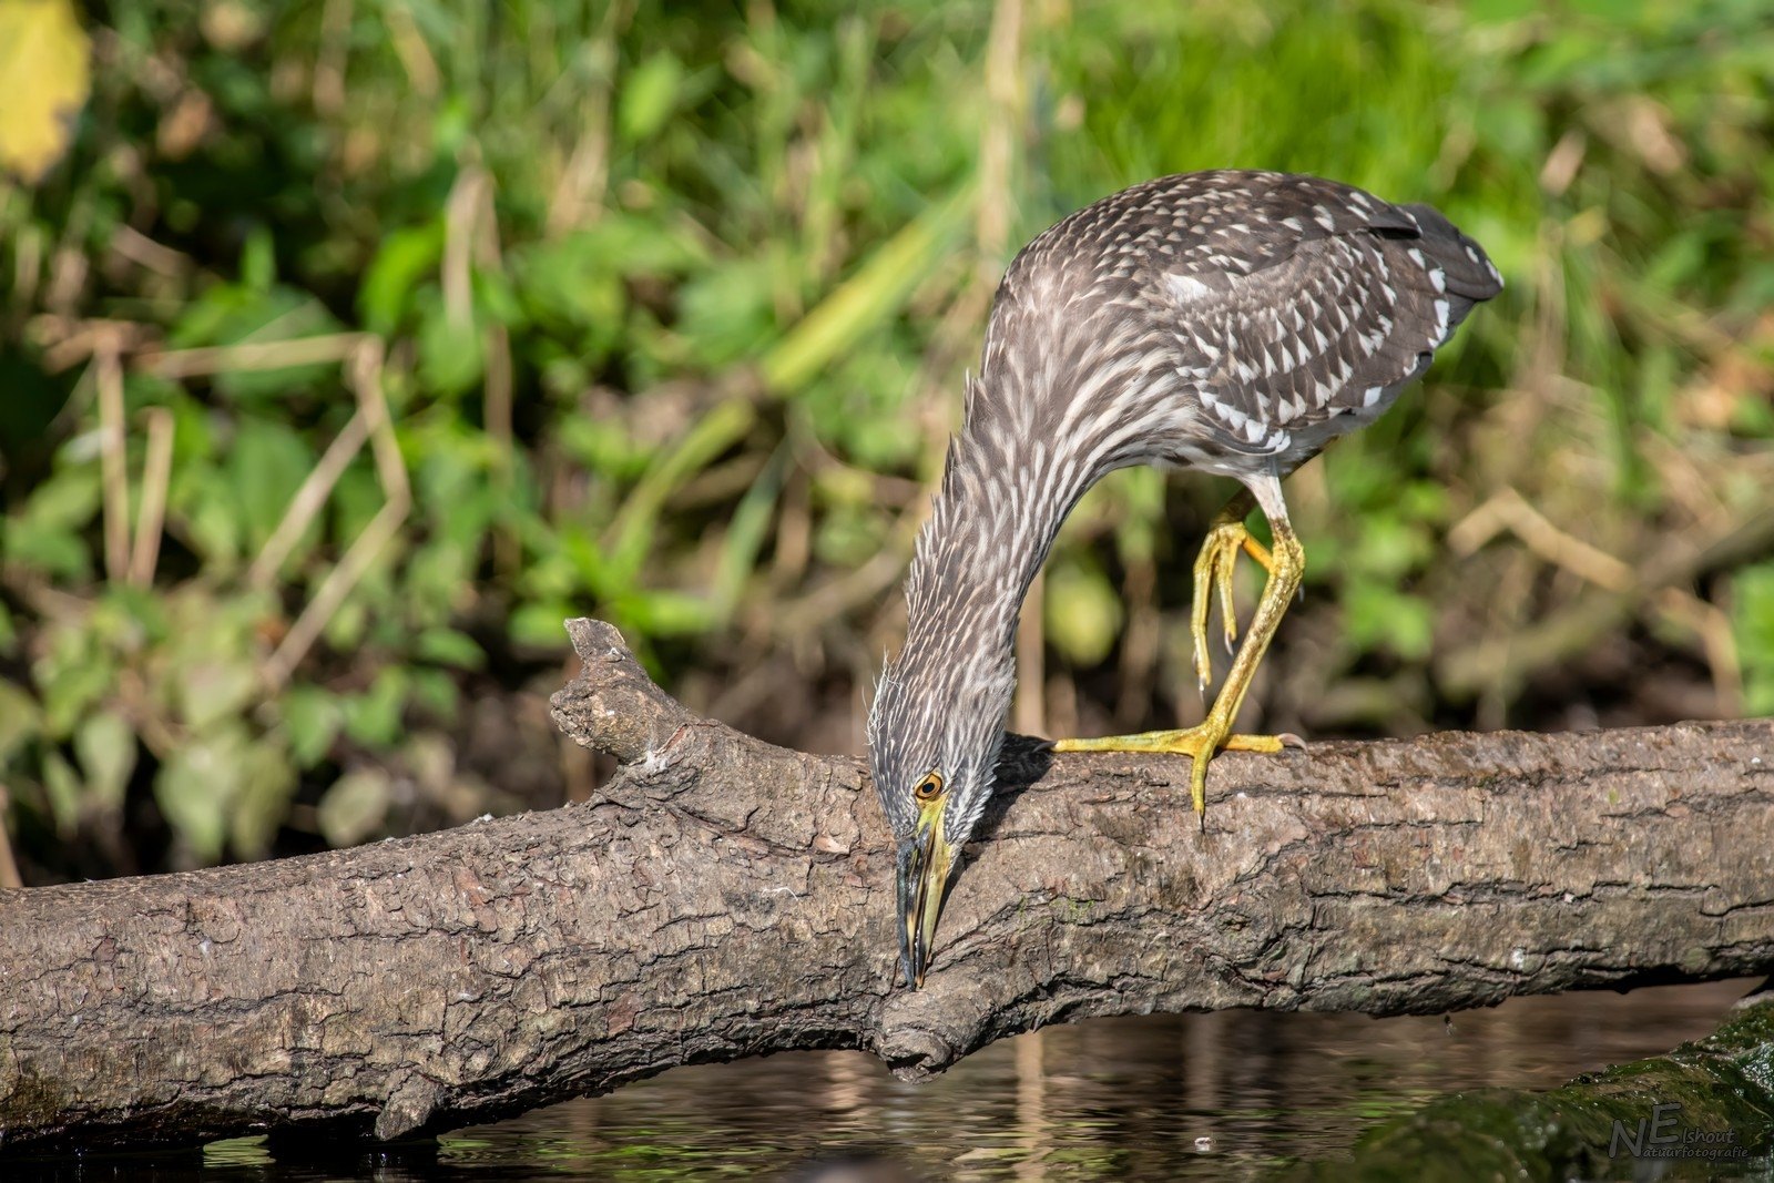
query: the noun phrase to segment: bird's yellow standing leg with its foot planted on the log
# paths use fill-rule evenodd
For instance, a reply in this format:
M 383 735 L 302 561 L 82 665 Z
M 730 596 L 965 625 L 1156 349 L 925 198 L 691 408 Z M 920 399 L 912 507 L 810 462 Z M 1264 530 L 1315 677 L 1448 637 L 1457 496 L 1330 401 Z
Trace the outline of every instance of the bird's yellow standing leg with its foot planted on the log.
M 1054 750 L 1059 752 L 1174 752 L 1192 757 L 1189 796 L 1196 807 L 1196 814 L 1203 821 L 1206 819 L 1208 807 L 1208 761 L 1213 759 L 1215 752 L 1222 748 L 1235 752 L 1279 752 L 1283 748 L 1279 736 L 1242 736 L 1231 733 L 1238 708 L 1244 706 L 1244 695 L 1251 688 L 1251 678 L 1268 651 L 1276 626 L 1281 624 L 1281 617 L 1288 610 L 1288 601 L 1293 599 L 1293 592 L 1299 591 L 1300 578 L 1306 573 L 1306 552 L 1293 536 L 1293 527 L 1288 525 L 1279 484 L 1270 479 L 1258 490 L 1258 498 L 1263 502 L 1263 513 L 1268 514 L 1276 536 L 1276 546 L 1267 564 L 1268 582 L 1263 585 L 1263 598 L 1251 617 L 1251 628 L 1245 631 L 1244 644 L 1238 646 L 1238 654 L 1226 674 L 1226 685 L 1221 686 L 1219 697 L 1213 699 L 1208 717 L 1194 727 L 1180 731 L 1148 731 L 1135 736 L 1107 736 L 1102 740 L 1061 740 L 1054 745 Z M 1228 511 L 1235 507 L 1231 505 Z M 1236 552 L 1229 552 L 1228 557 L 1235 555 Z

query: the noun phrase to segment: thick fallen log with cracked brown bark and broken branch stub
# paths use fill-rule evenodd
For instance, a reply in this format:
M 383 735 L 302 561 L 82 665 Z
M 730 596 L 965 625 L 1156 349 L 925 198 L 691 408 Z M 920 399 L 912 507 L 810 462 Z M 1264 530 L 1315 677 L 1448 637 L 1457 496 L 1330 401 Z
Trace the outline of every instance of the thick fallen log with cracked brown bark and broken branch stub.
M 924 991 L 860 761 L 685 711 L 569 624 L 589 805 L 0 892 L 0 1153 L 394 1139 L 674 1064 L 933 1073 L 1091 1015 L 1371 1015 L 1774 970 L 1774 725 L 1437 734 L 1187 761 L 1008 745 Z

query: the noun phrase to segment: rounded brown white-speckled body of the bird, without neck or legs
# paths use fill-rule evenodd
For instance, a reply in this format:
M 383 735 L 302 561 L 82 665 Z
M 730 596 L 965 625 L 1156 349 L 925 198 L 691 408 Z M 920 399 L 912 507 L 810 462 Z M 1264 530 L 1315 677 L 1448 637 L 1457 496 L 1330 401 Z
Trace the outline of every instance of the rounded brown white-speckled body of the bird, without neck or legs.
M 985 401 L 1032 427 L 1098 426 L 1107 438 L 1082 447 L 1111 466 L 1242 475 L 1244 461 L 1221 463 L 1229 454 L 1277 456 L 1288 472 L 1385 410 L 1501 286 L 1478 245 L 1428 206 L 1274 172 L 1160 177 L 1017 255 L 981 383 L 1031 406 Z M 1139 381 L 1068 390 L 1029 381 L 1031 365 L 1128 369 Z

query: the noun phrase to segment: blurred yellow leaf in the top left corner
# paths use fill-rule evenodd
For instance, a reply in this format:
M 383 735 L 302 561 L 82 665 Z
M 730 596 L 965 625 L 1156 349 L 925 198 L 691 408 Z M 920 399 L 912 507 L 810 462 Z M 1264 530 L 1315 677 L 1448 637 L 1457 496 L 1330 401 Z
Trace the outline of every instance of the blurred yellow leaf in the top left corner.
M 0 0 L 0 168 L 35 183 L 67 149 L 89 44 L 67 0 Z

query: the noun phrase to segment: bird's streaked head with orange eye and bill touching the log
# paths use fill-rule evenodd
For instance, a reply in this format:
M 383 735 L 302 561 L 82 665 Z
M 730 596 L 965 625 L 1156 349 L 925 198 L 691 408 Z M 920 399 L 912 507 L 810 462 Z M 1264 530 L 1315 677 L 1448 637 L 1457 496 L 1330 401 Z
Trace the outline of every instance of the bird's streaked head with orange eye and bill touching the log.
M 924 984 L 937 919 L 960 850 L 992 796 L 1015 686 L 1002 656 L 912 656 L 882 674 L 869 711 L 875 791 L 898 848 L 899 965 L 907 986 Z

